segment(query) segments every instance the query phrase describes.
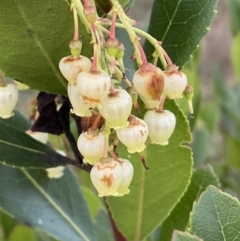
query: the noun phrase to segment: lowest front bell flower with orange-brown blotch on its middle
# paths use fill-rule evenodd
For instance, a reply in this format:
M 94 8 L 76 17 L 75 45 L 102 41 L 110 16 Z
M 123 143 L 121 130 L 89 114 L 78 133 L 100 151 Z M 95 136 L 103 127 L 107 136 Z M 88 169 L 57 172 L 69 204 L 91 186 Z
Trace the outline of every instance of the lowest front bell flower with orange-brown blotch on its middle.
M 122 166 L 113 158 L 102 158 L 92 168 L 90 177 L 98 196 L 118 196 L 122 182 Z

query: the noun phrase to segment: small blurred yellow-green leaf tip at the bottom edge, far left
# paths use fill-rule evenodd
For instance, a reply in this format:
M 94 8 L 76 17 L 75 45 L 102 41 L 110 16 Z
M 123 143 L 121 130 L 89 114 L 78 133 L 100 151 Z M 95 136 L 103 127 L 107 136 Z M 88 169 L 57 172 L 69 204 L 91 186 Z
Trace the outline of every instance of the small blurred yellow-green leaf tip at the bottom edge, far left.
M 37 241 L 33 229 L 25 225 L 19 224 L 18 226 L 15 227 L 15 229 L 11 233 L 8 241 L 23 241 L 23 240 Z

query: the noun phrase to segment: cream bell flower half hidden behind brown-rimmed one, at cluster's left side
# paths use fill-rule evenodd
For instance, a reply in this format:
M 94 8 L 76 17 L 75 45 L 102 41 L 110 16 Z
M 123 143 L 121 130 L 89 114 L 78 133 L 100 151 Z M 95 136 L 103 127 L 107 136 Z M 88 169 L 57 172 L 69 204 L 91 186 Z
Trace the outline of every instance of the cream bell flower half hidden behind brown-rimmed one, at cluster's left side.
M 76 84 L 72 84 L 72 85 L 68 84 L 67 91 L 68 91 L 69 100 L 73 107 L 71 109 L 71 113 L 73 113 L 77 116 L 81 116 L 81 117 L 92 116 L 92 111 L 91 111 L 92 106 L 83 102 L 83 97 L 79 93 L 77 85 Z

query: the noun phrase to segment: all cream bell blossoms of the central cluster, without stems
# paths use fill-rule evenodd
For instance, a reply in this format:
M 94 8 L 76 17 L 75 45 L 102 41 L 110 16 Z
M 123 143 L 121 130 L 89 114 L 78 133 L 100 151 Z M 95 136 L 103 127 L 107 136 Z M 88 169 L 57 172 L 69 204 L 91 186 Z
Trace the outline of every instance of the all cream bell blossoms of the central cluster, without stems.
M 160 109 L 165 98 L 182 96 L 187 86 L 184 73 L 175 65 L 165 71 L 151 63 L 142 64 L 133 76 L 133 87 L 149 109 L 143 119 L 131 114 L 132 96 L 122 87 L 113 88 L 111 76 L 93 71 L 91 61 L 84 56 L 68 56 L 61 59 L 60 71 L 68 80 L 68 97 L 71 112 L 80 117 L 91 117 L 94 111 L 105 119 L 105 126 L 116 132 L 117 138 L 129 153 L 141 153 L 145 142 L 167 145 L 175 125 L 175 115 Z M 104 155 L 104 127 L 96 126 L 80 134 L 77 145 L 83 162 L 93 165 L 91 180 L 99 196 L 122 196 L 129 192 L 133 177 L 133 165 L 129 160 Z

